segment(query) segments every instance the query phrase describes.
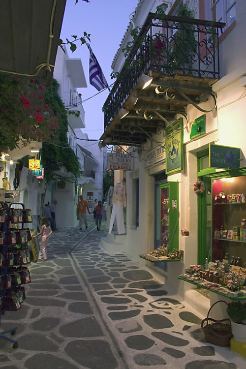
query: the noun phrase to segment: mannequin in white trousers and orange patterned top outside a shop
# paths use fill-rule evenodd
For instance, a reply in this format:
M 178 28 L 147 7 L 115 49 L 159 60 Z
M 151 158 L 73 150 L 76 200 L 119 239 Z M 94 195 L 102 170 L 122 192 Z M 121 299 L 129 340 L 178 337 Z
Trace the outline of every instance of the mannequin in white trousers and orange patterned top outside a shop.
M 112 203 L 113 209 L 109 223 L 109 233 L 111 233 L 112 231 L 114 221 L 116 218 L 118 234 L 121 235 L 125 233 L 123 207 L 126 207 L 126 199 L 125 199 L 125 187 L 123 184 L 121 183 L 116 184 L 113 192 Z

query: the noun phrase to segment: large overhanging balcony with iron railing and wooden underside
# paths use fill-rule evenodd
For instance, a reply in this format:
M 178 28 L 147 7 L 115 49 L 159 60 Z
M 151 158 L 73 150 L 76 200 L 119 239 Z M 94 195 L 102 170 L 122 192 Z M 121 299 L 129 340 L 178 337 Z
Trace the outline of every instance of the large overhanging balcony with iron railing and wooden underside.
M 105 101 L 102 146 L 141 146 L 177 114 L 186 117 L 188 104 L 203 112 L 213 110 L 223 27 L 224 23 L 175 16 L 156 19 L 149 13 Z M 211 110 L 199 108 L 209 99 Z

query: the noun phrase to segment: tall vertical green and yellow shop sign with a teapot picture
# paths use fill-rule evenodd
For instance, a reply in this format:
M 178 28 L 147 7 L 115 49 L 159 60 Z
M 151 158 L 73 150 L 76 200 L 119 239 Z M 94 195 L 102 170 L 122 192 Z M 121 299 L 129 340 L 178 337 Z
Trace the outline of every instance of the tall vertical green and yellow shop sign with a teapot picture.
M 183 169 L 183 118 L 166 128 L 166 174 Z

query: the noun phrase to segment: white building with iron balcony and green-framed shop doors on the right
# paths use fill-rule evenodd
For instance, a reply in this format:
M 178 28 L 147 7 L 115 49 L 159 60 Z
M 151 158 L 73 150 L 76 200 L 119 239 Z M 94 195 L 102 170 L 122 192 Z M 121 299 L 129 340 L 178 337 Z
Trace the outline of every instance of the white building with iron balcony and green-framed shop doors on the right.
M 155 33 L 157 26 L 156 23 L 152 24 L 153 16 L 150 15 L 149 18 L 147 16 L 149 12 L 154 13 L 156 6 L 162 3 L 166 3 L 164 8 L 170 17 L 160 24 L 159 32 L 164 35 L 162 34 L 162 39 L 159 40 L 165 40 L 163 46 L 165 56 L 158 59 L 160 54 L 156 53 L 156 48 L 149 48 L 149 42 L 159 37 L 158 32 Z M 119 100 L 121 103 L 117 105 L 118 96 L 124 87 L 122 78 L 122 81 L 116 81 L 112 88 L 112 96 L 109 95 L 105 102 L 105 105 L 110 106 L 111 99 L 116 101 L 117 109 L 114 114 L 112 113 L 111 123 L 101 136 L 101 143 L 128 145 L 131 154 L 135 156 L 134 170 L 126 172 L 126 235 L 123 235 L 122 239 L 118 236 L 122 250 L 138 259 L 140 263 L 147 264 L 163 274 L 174 291 L 186 298 L 192 285 L 180 280 L 178 276 L 191 264 L 204 265 L 206 258 L 212 261 L 222 260 L 225 253 L 229 253 L 230 257 L 234 253 L 241 257 L 242 266 L 246 262 L 246 251 L 242 243 L 236 244 L 228 240 L 227 243 L 221 243 L 214 240 L 214 232 L 218 226 L 215 222 L 216 217 L 221 223 L 219 227 L 223 223 L 224 227 L 228 227 L 225 229 L 232 229 L 233 221 L 236 223 L 233 226 L 240 226 L 239 218 L 235 214 L 232 215 L 231 210 L 227 210 L 223 220 L 222 215 L 215 214 L 213 207 L 216 186 L 218 193 L 227 191 L 227 194 L 230 194 L 228 186 L 222 187 L 222 181 L 216 182 L 220 177 L 230 178 L 230 183 L 242 183 L 234 189 L 230 184 L 230 191 L 240 193 L 246 190 L 246 143 L 243 134 L 246 115 L 246 49 L 242 47 L 242 35 L 246 32 L 244 21 L 246 2 L 219 0 L 211 5 L 211 1 L 187 1 L 188 6 L 194 11 L 195 18 L 225 23 L 225 25 L 213 23 L 217 29 L 208 36 L 205 29 L 208 31 L 210 27 L 211 31 L 212 23 L 200 21 L 199 31 L 194 36 L 194 42 L 200 42 L 196 49 L 196 56 L 198 54 L 199 56 L 191 62 L 196 71 L 191 71 L 192 66 L 187 65 L 187 60 L 186 64 L 184 62 L 182 66 L 179 65 L 177 54 L 175 57 L 171 54 L 175 53 L 174 44 L 179 40 L 178 29 L 176 31 L 171 29 L 183 23 L 180 19 L 172 18 L 177 14 L 178 3 L 179 1 L 174 0 L 164 2 L 142 0 L 132 13 L 131 22 L 112 64 L 114 71 L 124 72 L 125 59 L 122 49 L 132 39 L 130 31 L 134 27 L 144 26 L 142 35 L 147 34 L 149 36 L 147 39 L 151 41 L 143 43 L 142 49 L 135 50 L 133 60 L 140 67 L 131 73 L 133 75 L 131 81 L 128 77 L 128 84 L 132 87 L 125 92 L 125 98 L 121 97 Z M 192 30 L 194 31 L 195 27 Z M 218 44 L 214 43 L 213 46 L 217 31 Z M 169 44 L 171 41 L 172 45 Z M 189 41 L 186 47 L 189 47 Z M 155 53 L 152 54 L 152 58 L 156 58 L 156 64 L 150 57 L 151 53 Z M 190 51 L 190 55 L 192 53 Z M 185 56 L 184 49 L 180 49 L 179 54 Z M 173 58 L 171 59 L 173 64 L 170 58 Z M 215 68 L 208 73 L 212 66 L 210 58 L 214 58 Z M 141 61 L 144 62 L 141 64 Z M 127 74 L 127 70 L 125 73 Z M 143 78 L 150 81 L 146 89 L 143 89 Z M 121 109 L 127 114 L 123 118 Z M 184 123 L 181 129 L 183 137 L 174 136 L 170 139 L 173 130 L 170 124 L 177 122 L 180 117 Z M 181 146 L 177 144 L 175 152 L 171 152 L 173 146 L 169 150 L 168 145 L 175 140 L 183 141 L 183 144 Z M 213 152 L 210 144 L 228 147 L 224 149 L 226 151 L 221 159 L 225 167 L 215 161 L 213 164 L 211 157 L 222 154 L 219 150 Z M 135 153 L 132 152 L 132 147 L 137 148 Z M 229 158 L 230 152 L 233 151 L 231 148 L 241 149 L 240 163 L 238 159 L 235 162 L 235 155 Z M 178 157 L 178 149 L 179 154 L 181 153 L 181 162 L 175 169 L 175 166 L 172 167 L 172 161 Z M 168 150 L 170 155 L 166 155 Z M 236 169 L 232 169 L 233 167 Z M 125 175 L 123 172 L 118 173 L 116 182 L 122 182 L 123 175 Z M 197 195 L 193 189 L 198 180 L 205 184 L 202 195 Z M 166 188 L 170 191 L 172 201 L 169 203 L 170 213 L 164 214 L 163 201 Z M 243 214 L 237 215 L 241 217 Z M 171 249 L 184 250 L 183 260 L 151 263 L 139 258 L 139 254 L 150 254 L 151 249 L 162 245 L 165 233 L 163 227 L 167 224 L 165 221 L 170 222 L 169 236 L 166 235 L 169 237 L 169 243 L 175 240 Z M 104 247 L 110 252 L 115 252 L 114 246 L 111 247 L 110 243 Z M 217 295 L 212 293 L 211 296 L 215 299 Z

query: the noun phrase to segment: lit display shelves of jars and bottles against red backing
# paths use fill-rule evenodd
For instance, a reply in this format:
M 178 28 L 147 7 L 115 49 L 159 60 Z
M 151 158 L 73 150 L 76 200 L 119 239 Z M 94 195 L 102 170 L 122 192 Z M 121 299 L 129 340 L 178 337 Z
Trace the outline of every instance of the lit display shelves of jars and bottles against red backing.
M 238 171 L 239 172 L 239 171 Z M 245 172 L 242 172 L 245 174 Z M 227 176 L 223 178 L 223 174 Z M 228 177 L 230 171 L 212 181 L 212 260 L 222 260 L 225 253 L 246 262 L 246 176 Z M 219 174 L 217 174 L 219 176 Z

